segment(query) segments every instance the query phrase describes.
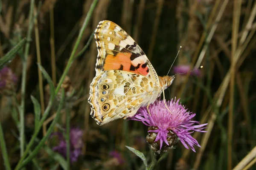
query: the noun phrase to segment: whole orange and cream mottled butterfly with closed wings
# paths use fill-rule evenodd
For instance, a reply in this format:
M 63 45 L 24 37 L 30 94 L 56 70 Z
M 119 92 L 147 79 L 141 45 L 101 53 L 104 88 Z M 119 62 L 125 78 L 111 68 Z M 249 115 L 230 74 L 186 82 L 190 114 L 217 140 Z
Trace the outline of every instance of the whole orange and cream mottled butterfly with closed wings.
M 96 76 L 90 84 L 90 115 L 98 125 L 134 116 L 168 88 L 175 76 L 157 76 L 140 46 L 116 23 L 99 22 Z

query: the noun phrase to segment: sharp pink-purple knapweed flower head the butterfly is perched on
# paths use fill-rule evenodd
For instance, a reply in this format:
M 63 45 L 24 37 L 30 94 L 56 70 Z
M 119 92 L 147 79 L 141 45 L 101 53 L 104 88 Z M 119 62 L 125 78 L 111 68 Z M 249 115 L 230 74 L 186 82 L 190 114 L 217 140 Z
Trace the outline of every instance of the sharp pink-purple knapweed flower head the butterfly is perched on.
M 189 112 L 183 105 L 179 104 L 179 100 L 172 99 L 166 102 L 169 110 L 163 100 L 157 101 L 149 106 L 150 114 L 147 108 L 140 108 L 131 119 L 143 122 L 144 125 L 148 126 L 147 142 L 152 143 L 151 140 L 154 139 L 153 142 L 158 142 L 160 145 L 159 150 L 171 144 L 172 148 L 179 139 L 184 147 L 187 149 L 190 147 L 195 152 L 194 146 L 201 146 L 191 136 L 191 133 L 194 131 L 206 132 L 203 129 L 206 128 L 207 124 L 200 125 L 199 122 L 193 121 L 192 118 L 195 117 L 195 113 Z

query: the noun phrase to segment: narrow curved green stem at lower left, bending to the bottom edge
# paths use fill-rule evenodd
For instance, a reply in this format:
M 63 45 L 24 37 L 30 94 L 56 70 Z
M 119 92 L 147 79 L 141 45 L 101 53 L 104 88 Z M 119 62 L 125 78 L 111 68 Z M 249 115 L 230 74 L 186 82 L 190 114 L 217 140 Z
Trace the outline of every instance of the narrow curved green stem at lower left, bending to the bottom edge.
M 61 101 L 58 105 L 58 110 L 57 110 L 56 116 L 53 119 L 50 127 L 48 128 L 47 133 L 45 134 L 43 139 L 40 140 L 39 144 L 35 147 L 35 149 L 32 151 L 32 153 L 30 153 L 30 155 L 22 162 L 22 164 L 20 163 L 20 165 L 18 164 L 19 166 L 18 165 L 16 166 L 15 170 L 18 170 L 21 167 L 28 164 L 31 161 L 31 159 L 33 159 L 33 157 L 40 151 L 41 147 L 44 146 L 45 141 L 51 135 L 52 131 L 54 130 L 55 124 L 58 122 L 58 119 L 61 115 L 61 109 L 62 109 L 63 103 L 64 103 L 64 90 L 62 90 L 62 93 L 61 93 Z

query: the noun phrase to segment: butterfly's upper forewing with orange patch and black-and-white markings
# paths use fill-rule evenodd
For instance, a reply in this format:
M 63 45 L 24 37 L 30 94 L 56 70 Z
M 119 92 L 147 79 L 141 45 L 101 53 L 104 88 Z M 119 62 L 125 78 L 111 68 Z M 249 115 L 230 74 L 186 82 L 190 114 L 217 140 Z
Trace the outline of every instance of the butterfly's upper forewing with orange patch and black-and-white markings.
M 96 75 L 105 70 L 122 70 L 149 75 L 147 57 L 139 45 L 118 25 L 102 21 L 95 30 L 98 48 Z

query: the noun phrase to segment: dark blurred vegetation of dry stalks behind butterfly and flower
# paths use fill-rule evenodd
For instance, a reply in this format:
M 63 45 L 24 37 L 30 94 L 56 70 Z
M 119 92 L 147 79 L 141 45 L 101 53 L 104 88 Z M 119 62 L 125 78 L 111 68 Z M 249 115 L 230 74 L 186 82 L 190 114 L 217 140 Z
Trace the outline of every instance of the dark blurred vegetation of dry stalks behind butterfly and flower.
M 92 3 L 95 0 L 1 0 L 0 56 L 27 38 L 26 46 L 7 65 L 17 81 L 9 82 L 12 88 L 0 89 L 0 169 L 8 169 L 6 160 L 12 169 L 20 168 L 24 163 L 20 158 L 32 153 L 23 164 L 26 169 L 145 168 L 125 145 L 151 160 L 145 141 L 147 128 L 142 123 L 121 119 L 98 126 L 90 117 L 87 99 L 97 56 L 96 43 L 90 37 L 99 21 L 111 20 L 134 38 L 160 76 L 167 74 L 180 45 L 176 67 L 204 66 L 200 76 L 176 76 L 165 93 L 167 99 L 181 98 L 189 111 L 197 113 L 195 119 L 201 124 L 209 123 L 207 133 L 193 134 L 201 148 L 196 147 L 194 153 L 177 144 L 155 169 L 231 170 L 241 161 L 244 165 L 237 169 L 256 170 L 256 1 L 99 0 L 90 13 Z M 77 37 L 81 38 L 79 44 Z M 70 62 L 70 55 L 78 55 L 83 48 Z M 53 102 L 49 78 L 37 63 L 56 89 L 64 89 L 69 107 L 58 109 L 61 93 L 55 89 L 57 100 Z M 47 110 L 48 105 L 52 107 Z M 56 115 L 60 118 L 50 127 Z M 69 164 L 52 151 L 55 140 L 46 134 L 51 128 L 58 132 L 70 127 L 78 127 L 83 135 L 81 155 Z M 38 144 L 42 139 L 45 142 Z

